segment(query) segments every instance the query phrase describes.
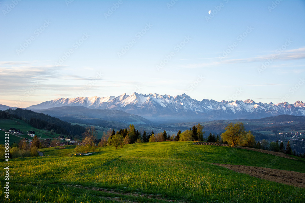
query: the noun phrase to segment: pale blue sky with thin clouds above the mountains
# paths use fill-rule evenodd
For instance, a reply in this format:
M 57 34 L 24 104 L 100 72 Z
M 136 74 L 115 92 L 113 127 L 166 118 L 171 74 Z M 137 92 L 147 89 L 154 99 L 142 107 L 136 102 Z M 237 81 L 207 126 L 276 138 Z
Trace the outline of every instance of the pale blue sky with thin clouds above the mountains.
M 305 102 L 304 1 L 171 2 L 0 1 L 0 104 L 133 92 Z

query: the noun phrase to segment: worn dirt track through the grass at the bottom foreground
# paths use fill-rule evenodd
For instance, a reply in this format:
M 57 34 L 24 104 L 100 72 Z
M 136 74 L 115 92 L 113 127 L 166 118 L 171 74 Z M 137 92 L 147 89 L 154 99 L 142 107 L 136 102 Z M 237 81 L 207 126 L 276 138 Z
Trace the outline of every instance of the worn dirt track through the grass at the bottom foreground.
M 108 188 L 100 188 L 100 187 L 83 187 L 82 185 L 67 185 L 69 187 L 77 187 L 77 188 L 82 188 L 86 190 L 94 190 L 94 191 L 102 191 L 106 193 L 111 193 L 111 194 L 119 194 L 119 195 L 126 195 L 126 196 L 134 196 L 134 197 L 143 197 L 147 199 L 152 199 L 152 200 L 160 200 L 160 201 L 166 201 L 166 202 L 181 202 L 181 203 L 186 203 L 185 201 L 177 201 L 177 200 L 170 200 L 167 199 L 167 195 L 165 195 L 165 198 L 161 194 L 145 194 L 141 192 L 124 192 L 123 190 L 113 190 L 113 189 L 108 189 Z M 122 198 L 122 197 L 103 197 L 108 200 L 115 200 L 119 202 L 135 202 L 135 201 L 129 201 L 127 198 Z

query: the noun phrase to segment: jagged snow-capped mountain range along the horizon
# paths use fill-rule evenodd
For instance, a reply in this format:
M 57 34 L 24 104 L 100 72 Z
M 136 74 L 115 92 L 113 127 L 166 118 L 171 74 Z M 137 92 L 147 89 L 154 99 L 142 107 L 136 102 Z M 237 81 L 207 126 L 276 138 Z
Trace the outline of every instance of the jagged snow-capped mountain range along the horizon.
M 253 100 L 198 101 L 186 94 L 178 96 L 133 93 L 108 97 L 59 98 L 46 101 L 27 109 L 41 110 L 52 107 L 83 106 L 91 109 L 121 110 L 142 116 L 151 121 L 211 121 L 220 119 L 253 119 L 280 114 L 305 116 L 305 104 L 255 103 Z

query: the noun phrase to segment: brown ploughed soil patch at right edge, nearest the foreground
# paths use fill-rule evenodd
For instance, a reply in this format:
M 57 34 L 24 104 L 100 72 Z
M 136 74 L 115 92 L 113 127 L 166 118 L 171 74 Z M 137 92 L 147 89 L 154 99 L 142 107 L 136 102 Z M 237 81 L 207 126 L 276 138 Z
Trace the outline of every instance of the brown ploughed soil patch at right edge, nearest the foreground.
M 231 165 L 212 163 L 217 166 L 222 166 L 239 173 L 246 173 L 250 176 L 270 180 L 278 183 L 292 185 L 295 187 L 305 188 L 305 173 L 299 173 L 288 170 L 270 169 L 256 166 L 242 166 L 242 165 Z

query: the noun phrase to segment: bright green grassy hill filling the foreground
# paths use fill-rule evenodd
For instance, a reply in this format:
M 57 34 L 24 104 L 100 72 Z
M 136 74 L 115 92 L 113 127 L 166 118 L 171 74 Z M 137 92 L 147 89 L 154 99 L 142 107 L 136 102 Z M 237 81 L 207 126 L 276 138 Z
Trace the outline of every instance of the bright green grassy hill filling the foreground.
M 99 151 L 100 150 L 100 151 Z M 305 189 L 210 163 L 268 166 L 305 173 L 291 160 L 191 142 L 98 148 L 90 156 L 41 149 L 45 157 L 11 159 L 10 199 L 3 202 L 303 202 Z M 49 155 L 49 156 L 47 156 Z M 4 184 L 3 178 L 0 179 Z M 0 195 L 4 195 L 0 191 Z

